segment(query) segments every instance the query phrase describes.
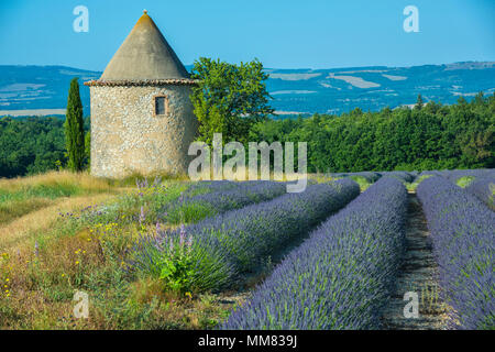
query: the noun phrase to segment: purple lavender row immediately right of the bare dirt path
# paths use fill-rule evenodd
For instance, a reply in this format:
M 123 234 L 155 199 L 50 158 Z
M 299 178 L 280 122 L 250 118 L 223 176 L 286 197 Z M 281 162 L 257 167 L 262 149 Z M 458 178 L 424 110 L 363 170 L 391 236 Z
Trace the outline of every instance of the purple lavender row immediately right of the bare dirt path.
M 417 194 L 452 322 L 463 329 L 495 328 L 495 213 L 444 177 L 425 179 Z

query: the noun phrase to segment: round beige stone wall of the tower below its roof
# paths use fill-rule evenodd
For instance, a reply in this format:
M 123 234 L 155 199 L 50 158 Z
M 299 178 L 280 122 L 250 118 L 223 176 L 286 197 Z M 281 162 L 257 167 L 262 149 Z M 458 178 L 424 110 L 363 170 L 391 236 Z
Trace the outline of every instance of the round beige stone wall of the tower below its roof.
M 91 86 L 91 175 L 187 173 L 198 122 L 190 86 Z M 154 114 L 166 96 L 168 113 Z

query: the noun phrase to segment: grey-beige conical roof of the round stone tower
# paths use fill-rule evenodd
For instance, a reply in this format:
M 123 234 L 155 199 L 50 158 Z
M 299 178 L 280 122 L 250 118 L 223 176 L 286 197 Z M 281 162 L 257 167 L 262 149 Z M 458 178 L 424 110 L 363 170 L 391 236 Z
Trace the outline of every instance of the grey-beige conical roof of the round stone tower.
M 174 50 L 144 11 L 113 55 L 100 80 L 161 80 L 189 78 Z

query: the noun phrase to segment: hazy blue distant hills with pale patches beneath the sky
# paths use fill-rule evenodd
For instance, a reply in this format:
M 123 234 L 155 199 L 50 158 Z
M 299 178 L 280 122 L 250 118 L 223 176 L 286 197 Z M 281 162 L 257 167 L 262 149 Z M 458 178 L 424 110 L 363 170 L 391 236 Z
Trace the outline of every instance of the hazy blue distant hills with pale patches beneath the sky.
M 272 105 L 280 117 L 396 108 L 415 103 L 418 94 L 426 101 L 453 103 L 459 96 L 495 91 L 495 62 L 266 72 Z M 0 114 L 64 113 L 70 79 L 86 81 L 100 75 L 65 66 L 0 66 Z M 89 88 L 82 85 L 81 99 L 88 116 Z

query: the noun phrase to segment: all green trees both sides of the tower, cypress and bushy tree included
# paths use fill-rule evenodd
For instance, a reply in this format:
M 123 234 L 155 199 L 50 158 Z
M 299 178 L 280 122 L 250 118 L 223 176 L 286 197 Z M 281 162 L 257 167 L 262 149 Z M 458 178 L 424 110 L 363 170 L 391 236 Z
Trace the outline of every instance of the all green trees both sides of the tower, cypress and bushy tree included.
M 191 101 L 198 140 L 223 142 L 307 142 L 308 172 L 493 168 L 495 94 L 460 97 L 444 106 L 421 96 L 413 109 L 355 108 L 340 116 L 271 119 L 268 77 L 257 61 L 233 65 L 200 58 L 193 68 L 199 84 Z M 89 118 L 82 119 L 77 78 L 69 88 L 67 117 L 0 119 L 0 177 L 89 165 Z

